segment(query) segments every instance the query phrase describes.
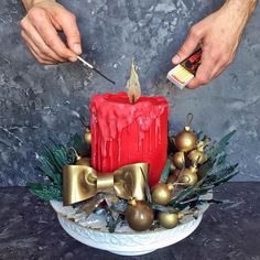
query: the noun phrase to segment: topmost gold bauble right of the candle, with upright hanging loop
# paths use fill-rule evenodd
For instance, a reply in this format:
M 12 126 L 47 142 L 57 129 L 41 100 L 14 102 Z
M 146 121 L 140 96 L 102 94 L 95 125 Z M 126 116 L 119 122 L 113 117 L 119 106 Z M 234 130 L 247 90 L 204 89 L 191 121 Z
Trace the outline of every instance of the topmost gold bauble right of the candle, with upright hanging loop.
M 189 127 L 192 120 L 193 115 L 188 113 L 186 127 L 174 138 L 175 147 L 181 152 L 192 151 L 197 143 L 197 136 Z

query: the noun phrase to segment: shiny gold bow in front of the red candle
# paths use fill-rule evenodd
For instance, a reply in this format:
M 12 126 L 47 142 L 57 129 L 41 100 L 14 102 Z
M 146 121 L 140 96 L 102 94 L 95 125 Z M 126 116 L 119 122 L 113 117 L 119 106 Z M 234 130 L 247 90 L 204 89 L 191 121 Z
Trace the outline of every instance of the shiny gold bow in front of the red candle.
M 145 199 L 148 163 L 134 163 L 119 167 L 113 173 L 98 173 L 88 165 L 65 165 L 63 167 L 63 204 L 79 203 L 94 197 L 99 192 L 113 191 L 116 195 L 129 199 Z

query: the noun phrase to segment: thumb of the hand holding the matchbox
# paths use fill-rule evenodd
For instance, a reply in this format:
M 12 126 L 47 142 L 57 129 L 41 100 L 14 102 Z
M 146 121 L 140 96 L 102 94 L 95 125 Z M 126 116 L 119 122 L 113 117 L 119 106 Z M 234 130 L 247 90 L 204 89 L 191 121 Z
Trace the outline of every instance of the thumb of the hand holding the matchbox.
M 183 45 L 178 50 L 177 54 L 172 58 L 173 64 L 178 64 L 182 61 L 184 61 L 185 58 L 187 58 L 194 52 L 194 50 L 197 47 L 197 45 L 199 44 L 199 42 L 203 39 L 203 35 L 204 34 L 203 34 L 203 30 L 201 29 L 201 26 L 194 25 L 191 29 Z

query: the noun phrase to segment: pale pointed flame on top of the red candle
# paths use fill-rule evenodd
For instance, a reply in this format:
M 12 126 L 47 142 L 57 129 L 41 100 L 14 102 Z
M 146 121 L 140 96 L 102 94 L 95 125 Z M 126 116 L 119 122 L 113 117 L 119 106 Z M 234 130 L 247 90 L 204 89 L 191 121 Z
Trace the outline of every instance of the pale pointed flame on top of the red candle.
M 139 83 L 139 76 L 136 71 L 133 58 L 131 63 L 130 77 L 127 83 L 127 89 L 128 89 L 128 97 L 129 97 L 130 102 L 131 104 L 137 102 L 137 100 L 141 97 L 141 86 Z

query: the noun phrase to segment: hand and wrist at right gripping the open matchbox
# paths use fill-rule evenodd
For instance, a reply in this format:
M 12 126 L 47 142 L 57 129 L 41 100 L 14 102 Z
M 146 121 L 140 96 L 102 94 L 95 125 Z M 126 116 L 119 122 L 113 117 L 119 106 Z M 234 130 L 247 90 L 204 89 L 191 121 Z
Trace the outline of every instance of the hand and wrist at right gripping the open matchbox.
M 218 11 L 192 26 L 180 51 L 172 58 L 173 64 L 178 64 L 198 45 L 202 46 L 202 63 L 188 84 L 189 88 L 208 84 L 232 62 L 256 3 L 257 0 L 227 0 Z

